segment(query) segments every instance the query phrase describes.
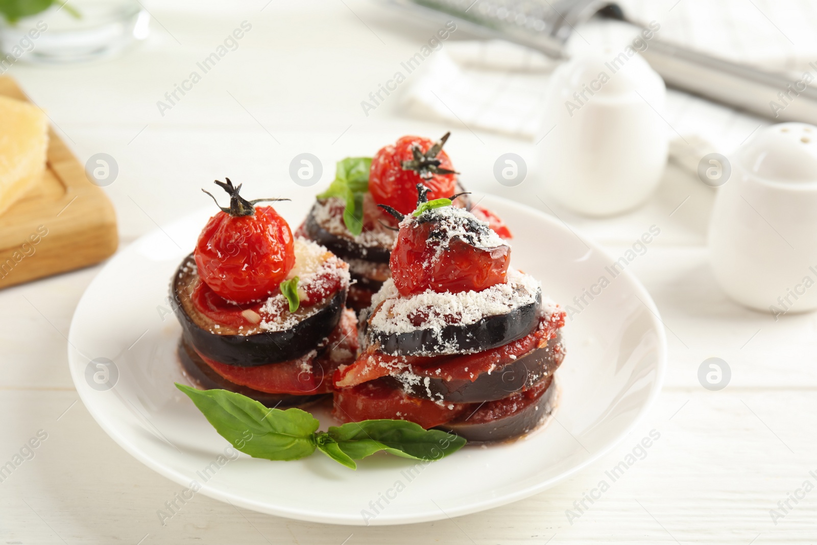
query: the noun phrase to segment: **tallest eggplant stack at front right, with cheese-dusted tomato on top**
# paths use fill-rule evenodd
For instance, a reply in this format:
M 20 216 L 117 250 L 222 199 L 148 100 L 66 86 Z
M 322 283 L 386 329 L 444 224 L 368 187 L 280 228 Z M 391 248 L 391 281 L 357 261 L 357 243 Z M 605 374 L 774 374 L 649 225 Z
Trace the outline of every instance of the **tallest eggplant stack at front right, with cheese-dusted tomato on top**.
M 471 443 L 522 436 L 556 402 L 565 314 L 510 268 L 511 248 L 451 199 L 395 217 L 391 279 L 360 316 L 363 352 L 334 374 L 342 422 L 403 418 Z

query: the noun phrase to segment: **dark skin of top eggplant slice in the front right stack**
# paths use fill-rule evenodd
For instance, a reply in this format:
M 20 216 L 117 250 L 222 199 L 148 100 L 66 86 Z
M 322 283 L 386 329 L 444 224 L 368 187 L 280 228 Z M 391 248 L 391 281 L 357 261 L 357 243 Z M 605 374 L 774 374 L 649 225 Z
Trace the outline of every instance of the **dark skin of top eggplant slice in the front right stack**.
M 459 354 L 480 352 L 516 341 L 534 331 L 539 323 L 542 293 L 536 301 L 517 306 L 501 315 L 486 316 L 473 324 L 451 324 L 436 332 L 434 329 L 415 329 L 408 333 L 382 333 L 369 324 L 368 341 L 378 344 L 388 355 L 449 354 L 454 346 Z

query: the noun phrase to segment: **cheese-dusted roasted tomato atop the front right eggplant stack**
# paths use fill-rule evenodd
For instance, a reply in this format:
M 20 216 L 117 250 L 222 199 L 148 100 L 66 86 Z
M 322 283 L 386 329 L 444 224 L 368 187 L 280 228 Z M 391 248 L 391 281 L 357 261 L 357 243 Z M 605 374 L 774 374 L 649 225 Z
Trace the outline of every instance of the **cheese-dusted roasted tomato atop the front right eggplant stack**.
M 423 293 L 429 288 L 437 293 L 479 292 L 505 282 L 511 247 L 475 246 L 467 238 L 487 232 L 483 225 L 473 217 L 462 219 L 457 232 L 465 235 L 451 235 L 448 221 L 426 218 L 434 213 L 425 212 L 397 234 L 389 266 L 400 295 Z

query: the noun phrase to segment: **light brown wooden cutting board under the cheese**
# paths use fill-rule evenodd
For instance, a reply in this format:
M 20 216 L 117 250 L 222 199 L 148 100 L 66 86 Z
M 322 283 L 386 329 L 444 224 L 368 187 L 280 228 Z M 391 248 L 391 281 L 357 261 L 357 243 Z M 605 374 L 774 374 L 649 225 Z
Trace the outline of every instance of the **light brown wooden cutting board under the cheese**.
M 0 77 L 0 95 L 28 101 L 9 77 Z M 53 127 L 48 137 L 42 180 L 0 215 L 0 288 L 93 265 L 118 245 L 108 197 Z

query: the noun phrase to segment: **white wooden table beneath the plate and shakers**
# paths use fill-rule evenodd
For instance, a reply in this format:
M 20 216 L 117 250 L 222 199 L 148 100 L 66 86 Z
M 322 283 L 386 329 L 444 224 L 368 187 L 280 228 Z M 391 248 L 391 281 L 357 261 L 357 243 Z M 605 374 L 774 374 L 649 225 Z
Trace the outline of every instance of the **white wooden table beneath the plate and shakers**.
M 253 194 L 311 199 L 290 181 L 301 152 L 333 160 L 372 153 L 396 136 L 448 127 L 400 118 L 396 100 L 368 117 L 359 102 L 391 77 L 434 30 L 395 22 L 367 2 L 299 5 L 267 0 L 203 5 L 150 2 L 154 34 L 136 51 L 92 65 L 11 69 L 47 109 L 81 160 L 105 152 L 120 175 L 106 190 L 123 244 L 208 205 L 199 188 L 216 177 Z M 160 115 L 162 100 L 195 63 L 243 20 L 252 30 L 236 51 Z M 680 101 L 680 102 L 679 102 Z M 670 123 L 712 123 L 751 132 L 763 123 L 676 96 Z M 0 121 L 2 122 L 2 121 Z M 449 153 L 471 187 L 546 207 L 532 179 L 512 190 L 490 176 L 506 151 L 533 146 L 450 127 Z M 689 199 L 687 199 L 689 197 Z M 659 192 L 625 217 L 588 221 L 550 212 L 600 240 L 614 255 L 642 232 L 662 232 L 631 268 L 667 326 L 669 367 L 659 402 L 618 448 L 580 475 L 519 503 L 454 520 L 400 528 L 303 523 L 198 495 L 161 525 L 156 511 L 178 486 L 120 449 L 74 391 L 66 365 L 69 321 L 98 267 L 0 292 L 0 463 L 47 434 L 34 456 L 0 483 L 2 543 L 815 543 L 817 492 L 794 503 L 804 481 L 817 485 L 817 319 L 771 315 L 726 299 L 708 268 L 705 236 L 712 190 L 669 168 Z M 546 201 L 547 202 L 547 201 Z M 680 208 L 677 208 L 679 204 Z M 729 386 L 708 391 L 697 373 L 720 357 Z M 580 362 L 574 362 L 580 364 Z M 587 511 L 565 511 L 596 487 L 649 433 L 661 437 Z M 810 474 L 815 471 L 815 474 Z M 802 493 L 797 493 L 803 495 Z M 788 500 L 791 509 L 779 509 Z M 340 500 L 342 501 L 342 500 Z M 778 509 L 773 521 L 771 509 Z M 776 522 L 776 524 L 775 524 Z

